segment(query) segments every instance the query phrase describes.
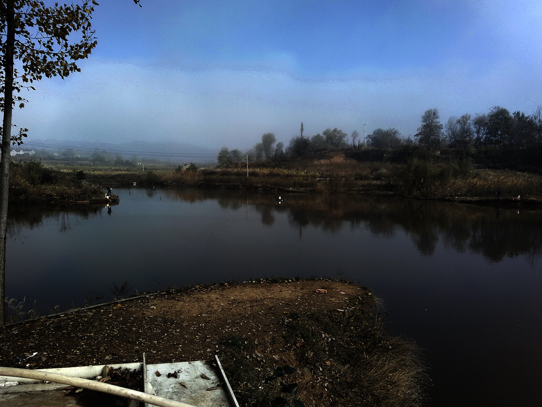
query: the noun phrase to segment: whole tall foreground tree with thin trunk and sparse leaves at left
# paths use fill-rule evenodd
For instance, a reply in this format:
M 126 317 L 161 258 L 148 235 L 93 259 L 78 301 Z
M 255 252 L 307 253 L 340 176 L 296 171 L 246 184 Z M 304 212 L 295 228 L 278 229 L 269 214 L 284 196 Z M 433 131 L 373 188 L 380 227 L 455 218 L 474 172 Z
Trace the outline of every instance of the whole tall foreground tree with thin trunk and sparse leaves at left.
M 138 0 L 139 1 L 139 0 Z M 138 2 L 136 2 L 138 3 Z M 79 72 L 76 61 L 88 58 L 96 46 L 91 26 L 95 1 L 81 4 L 59 4 L 51 7 L 37 0 L 0 2 L 0 106 L 2 122 L 2 162 L 0 164 L 0 325 L 4 323 L 5 238 L 8 218 L 10 143 L 20 144 L 27 129 L 11 135 L 12 110 L 15 103 L 24 107 L 25 99 L 14 92 L 35 90 L 33 82 Z M 75 34 L 79 33 L 79 39 Z M 17 61 L 18 68 L 14 68 Z

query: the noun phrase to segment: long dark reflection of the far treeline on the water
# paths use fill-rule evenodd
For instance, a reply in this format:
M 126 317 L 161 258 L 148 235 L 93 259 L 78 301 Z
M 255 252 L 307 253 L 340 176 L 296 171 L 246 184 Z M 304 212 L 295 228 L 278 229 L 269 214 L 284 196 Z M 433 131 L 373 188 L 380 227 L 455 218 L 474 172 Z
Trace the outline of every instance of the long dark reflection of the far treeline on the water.
M 321 228 L 337 233 L 345 227 L 364 228 L 377 236 L 398 231 L 410 236 L 416 249 L 432 256 L 439 243 L 457 252 L 480 253 L 500 262 L 505 257 L 539 255 L 542 248 L 542 210 L 487 208 L 453 202 L 405 200 L 364 195 L 291 194 L 279 205 L 269 194 L 234 191 L 175 190 L 170 198 L 189 202 L 216 200 L 225 209 L 248 205 L 272 225 L 275 213 L 285 213 L 296 229 Z

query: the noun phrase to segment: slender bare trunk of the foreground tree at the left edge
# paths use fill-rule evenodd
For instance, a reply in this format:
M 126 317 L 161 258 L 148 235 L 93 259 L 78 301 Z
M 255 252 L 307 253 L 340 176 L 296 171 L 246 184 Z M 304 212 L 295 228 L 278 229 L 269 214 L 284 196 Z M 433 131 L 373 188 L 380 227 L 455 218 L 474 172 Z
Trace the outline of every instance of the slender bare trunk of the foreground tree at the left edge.
M 4 65 L 4 119 L 2 122 L 2 162 L 0 162 L 0 326 L 5 321 L 5 239 L 8 227 L 9 162 L 11 141 L 11 112 L 13 110 L 13 52 L 15 44 L 15 11 L 13 1 L 6 2 Z

